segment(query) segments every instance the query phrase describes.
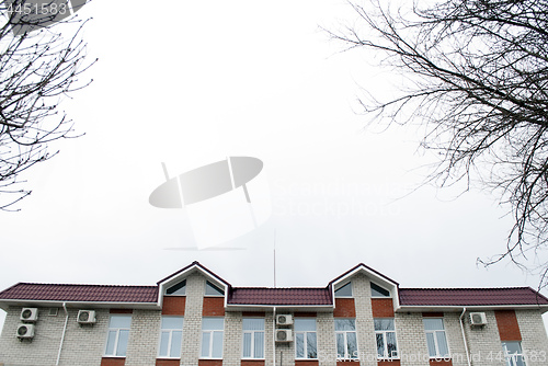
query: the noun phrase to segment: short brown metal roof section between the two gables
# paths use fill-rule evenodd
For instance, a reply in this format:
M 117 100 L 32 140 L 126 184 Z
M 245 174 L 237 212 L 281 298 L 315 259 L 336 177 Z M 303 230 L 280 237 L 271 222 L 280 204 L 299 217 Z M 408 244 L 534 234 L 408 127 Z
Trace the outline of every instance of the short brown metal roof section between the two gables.
M 332 305 L 331 291 L 328 288 L 232 288 L 228 298 L 229 305 L 295 305 L 321 306 Z

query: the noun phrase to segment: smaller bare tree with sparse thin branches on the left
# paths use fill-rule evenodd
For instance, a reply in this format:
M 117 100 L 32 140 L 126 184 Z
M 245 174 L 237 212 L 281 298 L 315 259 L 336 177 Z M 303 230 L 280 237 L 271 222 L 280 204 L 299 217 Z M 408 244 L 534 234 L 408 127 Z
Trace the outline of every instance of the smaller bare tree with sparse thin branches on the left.
M 79 76 L 94 62 L 84 64 L 85 43 L 80 31 L 85 21 L 71 15 L 76 10 L 60 0 L 0 4 L 4 21 L 0 26 L 2 210 L 12 209 L 31 193 L 19 187 L 19 176 L 58 152 L 48 151 L 48 142 L 76 136 L 72 122 L 59 111 L 59 102 L 89 84 L 80 82 Z

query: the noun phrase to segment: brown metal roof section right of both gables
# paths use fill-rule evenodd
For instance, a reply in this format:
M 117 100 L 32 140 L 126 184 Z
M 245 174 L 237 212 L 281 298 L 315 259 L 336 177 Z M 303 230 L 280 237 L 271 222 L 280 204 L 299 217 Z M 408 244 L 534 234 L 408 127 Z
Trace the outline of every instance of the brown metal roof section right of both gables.
M 530 287 L 513 288 L 400 288 L 401 306 L 548 305 Z

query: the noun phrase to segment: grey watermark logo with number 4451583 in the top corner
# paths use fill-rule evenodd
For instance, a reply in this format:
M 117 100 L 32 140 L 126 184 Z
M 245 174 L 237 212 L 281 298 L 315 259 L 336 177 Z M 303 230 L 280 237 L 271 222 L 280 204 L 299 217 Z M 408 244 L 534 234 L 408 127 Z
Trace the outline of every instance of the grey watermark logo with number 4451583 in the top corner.
M 14 35 L 58 23 L 82 9 L 87 0 L 3 0 L 1 11 Z

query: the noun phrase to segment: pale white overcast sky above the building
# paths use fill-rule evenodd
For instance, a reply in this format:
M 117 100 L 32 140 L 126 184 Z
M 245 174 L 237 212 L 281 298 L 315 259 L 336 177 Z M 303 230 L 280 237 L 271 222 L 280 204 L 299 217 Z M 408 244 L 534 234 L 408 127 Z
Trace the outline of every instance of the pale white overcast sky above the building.
M 532 286 L 506 262 L 494 197 L 422 187 L 420 131 L 364 129 L 359 85 L 399 78 L 373 55 L 338 53 L 319 25 L 353 23 L 344 1 L 101 1 L 84 37 L 94 82 L 62 107 L 84 137 L 24 176 L 33 194 L 0 213 L 0 288 L 18 282 L 153 285 L 194 260 L 235 286 L 326 286 L 363 262 L 401 287 Z M 391 83 L 392 82 L 392 83 Z M 194 247 L 183 210 L 149 205 L 172 175 L 225 159 L 264 162 L 273 215 L 229 244 Z M 411 194 L 409 194 L 411 193 Z M 0 311 L 0 327 L 3 322 Z

